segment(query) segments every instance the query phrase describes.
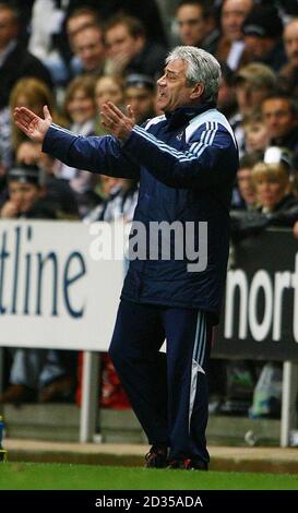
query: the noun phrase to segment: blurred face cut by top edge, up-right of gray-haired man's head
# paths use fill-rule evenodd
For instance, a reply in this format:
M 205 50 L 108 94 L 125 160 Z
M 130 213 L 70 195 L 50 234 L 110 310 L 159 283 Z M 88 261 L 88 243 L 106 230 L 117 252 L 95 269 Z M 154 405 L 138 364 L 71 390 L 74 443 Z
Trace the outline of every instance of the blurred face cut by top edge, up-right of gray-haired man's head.
M 242 39 L 241 26 L 252 7 L 253 0 L 226 0 L 224 2 L 222 27 L 224 36 L 229 41 Z

